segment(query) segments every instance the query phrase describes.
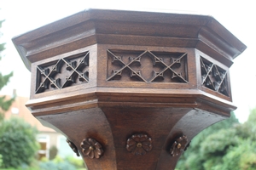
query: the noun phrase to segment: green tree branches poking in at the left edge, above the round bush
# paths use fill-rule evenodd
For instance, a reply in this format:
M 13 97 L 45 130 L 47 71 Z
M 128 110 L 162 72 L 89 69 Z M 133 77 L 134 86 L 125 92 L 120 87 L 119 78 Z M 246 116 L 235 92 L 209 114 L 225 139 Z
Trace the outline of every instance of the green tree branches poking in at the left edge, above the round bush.
M 2 27 L 2 23 L 4 20 L 0 20 L 0 28 Z M 0 37 L 2 33 L 0 32 Z M 2 59 L 1 53 L 3 52 L 5 43 L 0 43 L 0 61 Z M 0 91 L 1 89 L 9 82 L 9 78 L 13 76 L 13 72 L 9 73 L 8 75 L 2 75 L 0 71 Z M 13 103 L 15 97 L 12 99 L 6 99 L 5 96 L 0 97 L 0 122 L 3 121 L 4 111 L 9 110 L 9 106 Z

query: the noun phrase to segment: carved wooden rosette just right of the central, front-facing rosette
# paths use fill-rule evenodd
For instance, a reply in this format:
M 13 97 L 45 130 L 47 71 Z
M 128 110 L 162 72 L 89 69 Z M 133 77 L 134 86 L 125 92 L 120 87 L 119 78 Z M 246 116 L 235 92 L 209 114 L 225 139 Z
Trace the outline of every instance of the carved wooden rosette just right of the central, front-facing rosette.
M 186 144 L 188 143 L 188 139 L 185 135 L 177 138 L 171 146 L 170 153 L 171 156 L 178 156 L 182 153 L 182 151 L 186 150 Z

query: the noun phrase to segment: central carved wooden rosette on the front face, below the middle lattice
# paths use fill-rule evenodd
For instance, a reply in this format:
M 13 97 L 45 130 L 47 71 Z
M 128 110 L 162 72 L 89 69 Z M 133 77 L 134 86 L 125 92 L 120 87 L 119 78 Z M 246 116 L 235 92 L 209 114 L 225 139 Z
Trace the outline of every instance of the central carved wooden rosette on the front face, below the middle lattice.
M 127 139 L 126 149 L 133 155 L 145 155 L 152 150 L 152 140 L 147 134 L 134 134 Z

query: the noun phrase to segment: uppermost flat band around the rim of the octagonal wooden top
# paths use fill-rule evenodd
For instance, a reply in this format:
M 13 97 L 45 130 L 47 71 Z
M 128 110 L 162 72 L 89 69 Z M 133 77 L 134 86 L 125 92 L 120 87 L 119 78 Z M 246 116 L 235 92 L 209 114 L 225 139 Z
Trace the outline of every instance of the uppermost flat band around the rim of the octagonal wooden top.
M 190 17 L 189 20 L 187 19 L 188 17 Z M 65 22 L 66 20 L 69 20 L 69 22 Z M 224 37 L 224 39 L 232 39 L 230 43 L 232 43 L 233 46 L 236 48 L 241 46 L 238 50 L 243 51 L 245 48 L 242 42 L 240 42 L 232 33 L 230 33 L 230 31 L 222 26 L 218 20 L 215 20 L 212 16 L 209 15 L 174 14 L 150 11 L 128 11 L 94 8 L 80 11 L 77 14 L 72 14 L 61 20 L 56 20 L 33 31 L 28 31 L 22 35 L 14 37 L 13 40 L 17 43 L 31 41 L 32 39 L 44 37 L 55 31 L 61 31 L 71 26 L 77 26 L 88 20 L 116 20 L 139 23 L 207 26 L 212 31 L 216 32 L 220 37 Z M 41 32 L 41 34 L 38 34 L 38 32 Z M 32 36 L 26 37 L 28 34 Z

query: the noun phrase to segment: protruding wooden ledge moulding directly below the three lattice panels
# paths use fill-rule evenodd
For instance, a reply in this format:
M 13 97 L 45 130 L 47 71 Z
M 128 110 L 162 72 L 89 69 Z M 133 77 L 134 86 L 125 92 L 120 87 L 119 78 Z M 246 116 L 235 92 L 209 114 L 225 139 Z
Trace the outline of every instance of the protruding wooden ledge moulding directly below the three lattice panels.
M 229 116 L 230 111 L 236 106 L 230 101 L 202 92 L 201 90 L 187 89 L 141 89 L 133 88 L 90 88 L 69 94 L 59 94 L 41 99 L 30 99 L 26 103 L 34 116 L 60 114 L 67 111 L 78 111 L 92 107 L 104 106 L 132 106 L 132 107 L 186 107 L 201 108 L 206 111 L 216 112 L 222 116 Z M 107 98 L 106 98 L 107 96 Z M 112 98 L 108 99 L 108 96 Z M 127 101 L 122 97 L 130 97 Z M 167 99 L 167 102 L 155 102 L 152 99 Z M 148 98 L 147 101 L 143 99 Z M 175 99 L 183 99 L 175 102 Z M 135 100 L 136 99 L 136 100 Z M 138 101 L 142 99 L 142 101 Z

